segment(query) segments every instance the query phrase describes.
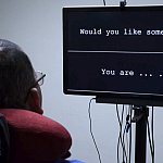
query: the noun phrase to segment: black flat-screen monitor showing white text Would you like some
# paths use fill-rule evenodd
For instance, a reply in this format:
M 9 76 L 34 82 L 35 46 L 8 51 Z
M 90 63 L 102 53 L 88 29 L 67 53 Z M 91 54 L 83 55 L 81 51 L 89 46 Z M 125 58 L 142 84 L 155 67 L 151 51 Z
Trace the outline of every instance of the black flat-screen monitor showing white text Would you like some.
M 163 105 L 163 7 L 63 8 L 63 91 Z

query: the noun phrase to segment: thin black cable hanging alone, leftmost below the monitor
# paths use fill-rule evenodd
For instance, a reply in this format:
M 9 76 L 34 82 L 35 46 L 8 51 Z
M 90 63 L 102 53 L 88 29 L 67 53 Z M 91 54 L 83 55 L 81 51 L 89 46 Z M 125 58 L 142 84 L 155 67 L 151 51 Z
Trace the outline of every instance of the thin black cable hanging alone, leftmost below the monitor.
M 97 142 L 96 142 L 96 139 L 95 139 L 95 136 L 93 136 L 93 133 L 92 133 L 91 101 L 95 100 L 95 99 L 96 99 L 96 98 L 90 99 L 90 101 L 89 101 L 89 106 L 88 106 L 89 129 L 90 129 L 90 135 L 91 135 L 92 141 L 93 141 L 93 145 L 95 145 L 96 150 L 97 150 L 97 153 L 98 153 L 99 162 L 102 163 L 101 154 L 100 154 L 99 148 L 98 148 L 98 146 L 97 146 Z

